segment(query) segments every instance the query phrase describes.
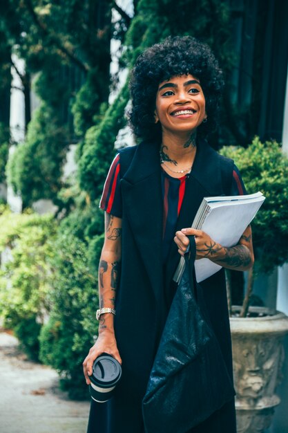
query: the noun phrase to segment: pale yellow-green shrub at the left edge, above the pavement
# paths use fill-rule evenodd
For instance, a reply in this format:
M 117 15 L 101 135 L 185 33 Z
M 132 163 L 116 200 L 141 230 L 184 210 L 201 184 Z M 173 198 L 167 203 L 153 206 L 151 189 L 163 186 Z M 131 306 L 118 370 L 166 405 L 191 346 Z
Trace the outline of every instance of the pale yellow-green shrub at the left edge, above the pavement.
M 39 331 L 49 309 L 48 257 L 55 221 L 49 215 L 2 212 L 0 250 L 8 259 L 0 270 L 0 313 L 28 356 L 37 359 Z

